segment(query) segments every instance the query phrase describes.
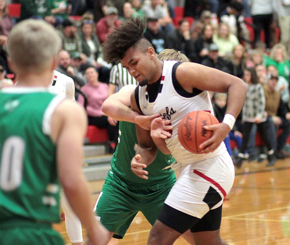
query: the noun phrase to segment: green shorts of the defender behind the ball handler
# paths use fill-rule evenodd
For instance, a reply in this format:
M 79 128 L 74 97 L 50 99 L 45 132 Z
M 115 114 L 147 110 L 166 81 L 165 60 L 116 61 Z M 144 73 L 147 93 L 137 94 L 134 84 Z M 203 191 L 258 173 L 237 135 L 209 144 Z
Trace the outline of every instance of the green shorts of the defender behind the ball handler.
M 121 239 L 138 211 L 154 224 L 175 181 L 173 174 L 155 184 L 136 184 L 111 170 L 97 201 L 96 215 L 109 231 L 114 232 L 114 238 Z

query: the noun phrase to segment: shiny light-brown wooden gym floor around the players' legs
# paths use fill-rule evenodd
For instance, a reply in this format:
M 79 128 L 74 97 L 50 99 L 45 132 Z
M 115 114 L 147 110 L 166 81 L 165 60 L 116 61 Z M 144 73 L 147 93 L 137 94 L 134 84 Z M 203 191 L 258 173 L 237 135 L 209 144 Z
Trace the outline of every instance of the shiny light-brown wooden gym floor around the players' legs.
M 103 181 L 91 182 L 94 200 Z M 71 244 L 64 221 L 54 225 L 66 244 Z M 110 245 L 147 244 L 150 224 L 138 213 L 123 239 Z M 290 244 L 290 158 L 277 160 L 272 167 L 265 162 L 243 163 L 236 170 L 234 186 L 223 204 L 221 237 L 230 245 Z M 187 244 L 179 238 L 175 245 Z

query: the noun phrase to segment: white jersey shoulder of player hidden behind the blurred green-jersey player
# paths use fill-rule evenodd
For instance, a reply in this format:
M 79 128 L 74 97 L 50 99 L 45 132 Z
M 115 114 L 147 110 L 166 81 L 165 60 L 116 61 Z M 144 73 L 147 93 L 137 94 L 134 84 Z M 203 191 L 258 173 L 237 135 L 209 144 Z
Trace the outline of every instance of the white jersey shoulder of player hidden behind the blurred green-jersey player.
M 75 100 L 75 83 L 72 78 L 54 70 L 51 86 L 48 91 L 53 94 L 58 94 L 70 101 Z

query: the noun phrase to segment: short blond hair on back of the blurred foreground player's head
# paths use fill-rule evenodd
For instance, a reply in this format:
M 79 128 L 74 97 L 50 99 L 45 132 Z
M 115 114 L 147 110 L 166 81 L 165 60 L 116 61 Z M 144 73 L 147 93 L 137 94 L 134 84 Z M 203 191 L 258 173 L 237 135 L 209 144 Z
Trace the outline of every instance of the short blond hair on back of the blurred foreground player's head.
M 10 32 L 8 57 L 15 72 L 41 73 L 52 65 L 61 46 L 56 30 L 43 20 L 24 20 Z

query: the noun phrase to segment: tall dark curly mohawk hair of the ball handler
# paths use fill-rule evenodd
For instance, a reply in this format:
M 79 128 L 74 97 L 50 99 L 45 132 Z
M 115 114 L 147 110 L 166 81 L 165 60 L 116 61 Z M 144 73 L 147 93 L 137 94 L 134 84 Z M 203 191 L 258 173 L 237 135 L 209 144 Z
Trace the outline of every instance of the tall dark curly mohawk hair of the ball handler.
M 118 63 L 131 46 L 135 46 L 141 39 L 145 39 L 143 33 L 146 26 L 146 19 L 137 17 L 127 20 L 118 29 L 114 29 L 108 34 L 106 41 L 101 44 L 104 60 Z M 152 45 L 149 44 L 149 46 Z

